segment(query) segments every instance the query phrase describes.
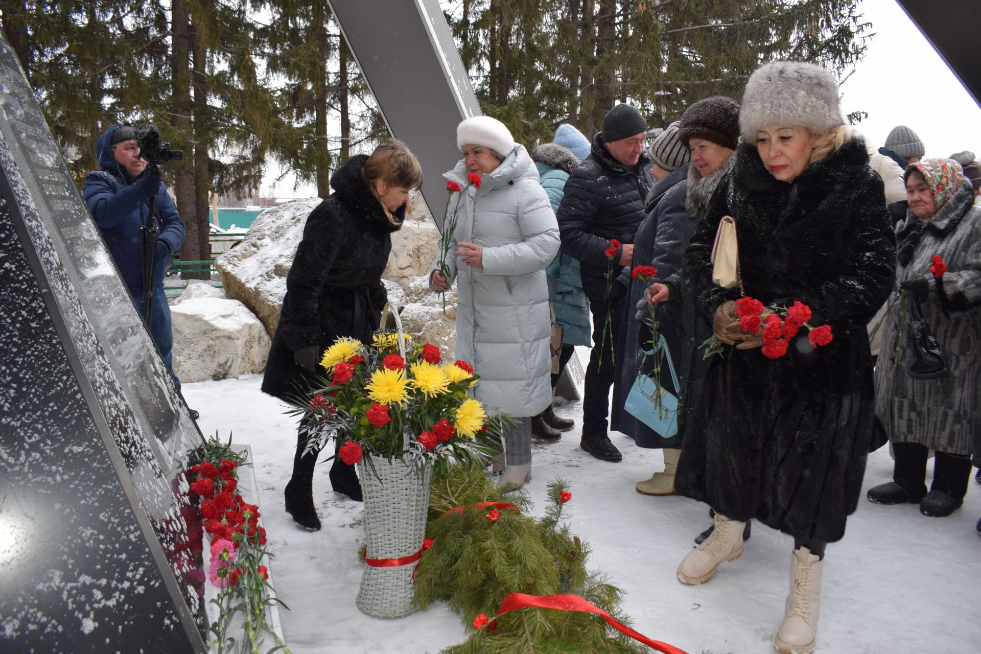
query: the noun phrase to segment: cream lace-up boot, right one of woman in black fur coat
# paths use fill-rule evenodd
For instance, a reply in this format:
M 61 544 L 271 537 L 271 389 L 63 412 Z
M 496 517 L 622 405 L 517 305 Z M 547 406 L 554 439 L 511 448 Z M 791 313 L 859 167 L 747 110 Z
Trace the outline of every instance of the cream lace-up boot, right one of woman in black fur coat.
M 773 646 L 782 654 L 814 651 L 823 570 L 824 561 L 806 547 L 794 550 L 791 555 L 791 594 L 787 596 L 784 622 L 773 639 Z

